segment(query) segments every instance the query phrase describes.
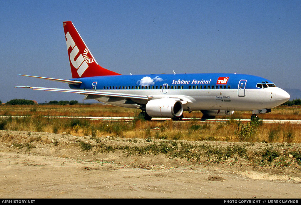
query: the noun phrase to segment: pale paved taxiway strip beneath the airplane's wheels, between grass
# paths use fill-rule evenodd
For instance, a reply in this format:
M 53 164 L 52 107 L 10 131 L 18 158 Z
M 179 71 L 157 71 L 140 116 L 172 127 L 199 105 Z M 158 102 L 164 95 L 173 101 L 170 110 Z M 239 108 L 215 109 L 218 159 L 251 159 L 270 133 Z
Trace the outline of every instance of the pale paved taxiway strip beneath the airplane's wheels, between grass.
M 7 117 L 26 117 L 26 116 L 0 116 L 0 118 L 7 118 Z M 132 121 L 134 117 L 89 117 L 89 116 L 44 116 L 49 118 L 73 118 L 73 119 L 88 119 L 88 120 L 104 120 L 104 121 Z M 153 117 L 152 120 L 155 121 L 164 121 L 164 120 L 171 120 L 170 118 L 159 118 Z M 190 120 L 196 120 L 199 122 L 227 122 L 229 119 L 209 119 L 203 120 L 201 118 L 183 118 L 180 121 L 173 121 L 173 122 L 186 122 Z M 250 119 L 233 119 L 236 121 L 241 122 L 250 122 Z M 301 124 L 301 120 L 262 120 L 263 123 L 290 123 L 290 124 Z

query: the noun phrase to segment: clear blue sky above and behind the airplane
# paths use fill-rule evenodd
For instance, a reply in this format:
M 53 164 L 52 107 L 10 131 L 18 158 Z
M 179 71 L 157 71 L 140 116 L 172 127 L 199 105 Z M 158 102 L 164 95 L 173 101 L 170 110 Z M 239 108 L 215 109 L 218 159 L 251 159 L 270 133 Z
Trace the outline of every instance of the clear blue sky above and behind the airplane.
M 18 76 L 71 78 L 63 21 L 117 73 L 244 73 L 301 89 L 300 11 L 301 1 L 1 1 L 0 99 L 82 102 L 14 88 L 68 88 Z

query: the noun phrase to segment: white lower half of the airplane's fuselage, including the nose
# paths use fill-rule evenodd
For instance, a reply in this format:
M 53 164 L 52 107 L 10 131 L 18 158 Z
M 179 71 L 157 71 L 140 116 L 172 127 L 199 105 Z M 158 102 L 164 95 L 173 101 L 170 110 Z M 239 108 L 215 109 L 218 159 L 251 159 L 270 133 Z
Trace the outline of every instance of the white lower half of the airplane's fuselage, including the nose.
M 107 90 L 96 90 L 105 92 Z M 120 90 L 110 90 L 120 92 Z M 146 95 L 149 90 L 122 90 L 123 93 Z M 258 110 L 273 108 L 287 101 L 286 92 L 278 87 L 265 89 L 244 89 L 244 96 L 238 96 L 238 89 L 161 89 L 151 91 L 153 99 L 178 98 L 182 96 L 186 104 L 184 110 Z M 139 104 L 127 104 L 126 99 L 112 101 L 111 98 L 101 97 L 96 100 L 120 107 L 140 108 Z

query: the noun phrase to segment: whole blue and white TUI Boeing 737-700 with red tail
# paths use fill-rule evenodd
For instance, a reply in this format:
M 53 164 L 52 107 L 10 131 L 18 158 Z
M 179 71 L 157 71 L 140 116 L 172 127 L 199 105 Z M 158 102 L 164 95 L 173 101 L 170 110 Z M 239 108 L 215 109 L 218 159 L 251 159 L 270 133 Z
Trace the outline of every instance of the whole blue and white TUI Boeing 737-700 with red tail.
M 39 79 L 68 83 L 70 89 L 16 86 L 33 90 L 79 93 L 110 105 L 140 109 L 152 117 L 182 120 L 183 112 L 200 110 L 204 119 L 228 116 L 236 110 L 271 112 L 290 95 L 265 78 L 237 73 L 121 75 L 101 67 L 71 21 L 63 22 L 72 79 Z

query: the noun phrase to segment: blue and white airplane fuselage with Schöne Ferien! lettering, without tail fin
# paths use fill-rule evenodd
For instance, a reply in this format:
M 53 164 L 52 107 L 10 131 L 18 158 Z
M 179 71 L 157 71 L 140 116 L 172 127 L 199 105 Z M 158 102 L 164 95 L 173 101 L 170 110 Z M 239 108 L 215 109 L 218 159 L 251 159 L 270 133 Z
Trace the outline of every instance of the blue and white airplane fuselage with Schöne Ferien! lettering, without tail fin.
M 97 76 L 71 79 L 80 85 L 71 89 L 126 93 L 159 98 L 181 98 L 184 110 L 256 110 L 276 107 L 288 100 L 284 90 L 268 79 L 235 73 L 151 74 Z M 98 101 L 122 107 L 140 108 L 147 101 Z

